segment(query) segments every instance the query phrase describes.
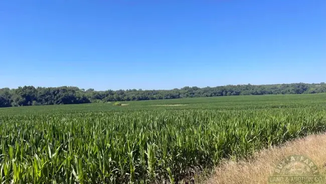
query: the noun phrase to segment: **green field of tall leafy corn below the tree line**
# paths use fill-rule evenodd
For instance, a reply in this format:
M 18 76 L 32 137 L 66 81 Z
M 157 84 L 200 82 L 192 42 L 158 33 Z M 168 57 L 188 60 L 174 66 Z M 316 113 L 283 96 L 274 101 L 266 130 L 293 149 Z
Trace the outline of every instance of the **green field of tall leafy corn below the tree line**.
M 123 103 L 0 109 L 0 181 L 178 182 L 326 130 L 326 94 Z

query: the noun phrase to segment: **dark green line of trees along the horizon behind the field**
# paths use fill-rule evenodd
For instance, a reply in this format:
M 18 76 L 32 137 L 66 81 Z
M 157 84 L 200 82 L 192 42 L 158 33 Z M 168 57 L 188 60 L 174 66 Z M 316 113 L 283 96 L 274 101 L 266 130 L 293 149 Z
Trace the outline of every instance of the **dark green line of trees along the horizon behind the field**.
M 218 97 L 238 95 L 277 95 L 326 93 L 326 84 L 291 83 L 268 85 L 225 85 L 217 87 L 183 87 L 172 90 L 106 90 L 80 89 L 72 86 L 0 89 L 0 107 L 36 106 L 54 104 L 105 103 L 115 101 L 142 101 L 192 97 Z

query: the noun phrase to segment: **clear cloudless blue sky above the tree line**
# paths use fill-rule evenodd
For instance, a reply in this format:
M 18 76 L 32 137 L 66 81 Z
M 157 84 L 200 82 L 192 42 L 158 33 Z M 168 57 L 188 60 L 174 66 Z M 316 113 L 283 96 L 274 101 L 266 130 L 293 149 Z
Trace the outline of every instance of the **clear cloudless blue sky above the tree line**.
M 326 81 L 326 1 L 0 1 L 0 88 Z

